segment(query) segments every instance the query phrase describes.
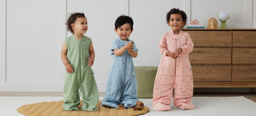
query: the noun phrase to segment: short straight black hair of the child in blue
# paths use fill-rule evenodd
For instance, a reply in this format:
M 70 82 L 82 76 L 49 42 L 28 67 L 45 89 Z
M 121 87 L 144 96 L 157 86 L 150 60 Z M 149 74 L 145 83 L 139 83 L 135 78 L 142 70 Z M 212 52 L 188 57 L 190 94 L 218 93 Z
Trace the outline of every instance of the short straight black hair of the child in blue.
M 131 17 L 126 16 L 126 15 L 120 15 L 116 20 L 115 20 L 115 29 L 120 28 L 124 24 L 130 24 L 131 25 L 131 30 L 133 29 L 133 20 Z

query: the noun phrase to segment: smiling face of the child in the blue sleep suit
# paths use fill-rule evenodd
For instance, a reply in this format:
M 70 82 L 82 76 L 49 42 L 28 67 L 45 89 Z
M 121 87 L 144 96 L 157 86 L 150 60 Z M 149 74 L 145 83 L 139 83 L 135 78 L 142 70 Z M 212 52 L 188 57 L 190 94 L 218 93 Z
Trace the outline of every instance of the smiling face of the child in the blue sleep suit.
M 132 31 L 133 29 L 131 30 L 131 25 L 127 23 L 119 27 L 117 30 L 115 29 L 117 35 L 124 41 L 127 41 L 127 38 L 130 36 Z

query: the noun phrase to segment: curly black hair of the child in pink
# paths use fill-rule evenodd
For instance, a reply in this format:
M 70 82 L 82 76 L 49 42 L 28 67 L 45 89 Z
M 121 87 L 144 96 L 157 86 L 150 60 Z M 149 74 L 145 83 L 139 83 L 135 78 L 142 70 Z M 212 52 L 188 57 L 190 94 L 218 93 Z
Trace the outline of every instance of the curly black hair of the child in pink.
M 170 21 L 170 16 L 171 16 L 171 14 L 181 14 L 182 20 L 185 21 L 185 25 L 186 25 L 186 22 L 187 22 L 187 15 L 186 15 L 186 13 L 185 13 L 183 10 L 180 10 L 179 8 L 178 8 L 178 9 L 172 8 L 172 9 L 166 14 L 166 17 L 165 17 L 165 19 L 166 19 L 166 21 L 167 21 L 166 24 L 168 24 L 168 21 Z M 185 26 L 185 25 L 184 25 L 184 26 Z M 182 29 L 184 26 L 181 26 L 181 29 Z

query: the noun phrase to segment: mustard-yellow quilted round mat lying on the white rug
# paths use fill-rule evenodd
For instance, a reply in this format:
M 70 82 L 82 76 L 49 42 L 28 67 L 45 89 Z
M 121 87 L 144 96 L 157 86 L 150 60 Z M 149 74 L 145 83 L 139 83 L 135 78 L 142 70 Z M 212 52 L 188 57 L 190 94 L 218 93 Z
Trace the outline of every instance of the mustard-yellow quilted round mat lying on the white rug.
M 76 108 L 76 111 L 63 110 L 63 100 L 58 102 L 41 102 L 21 106 L 17 111 L 27 116 L 136 116 L 139 114 L 147 113 L 149 108 L 144 106 L 144 110 L 133 111 L 133 108 L 128 109 L 114 109 L 105 107 L 105 111 L 84 111 L 82 110 L 83 102 Z M 101 101 L 97 103 L 97 109 L 101 107 Z

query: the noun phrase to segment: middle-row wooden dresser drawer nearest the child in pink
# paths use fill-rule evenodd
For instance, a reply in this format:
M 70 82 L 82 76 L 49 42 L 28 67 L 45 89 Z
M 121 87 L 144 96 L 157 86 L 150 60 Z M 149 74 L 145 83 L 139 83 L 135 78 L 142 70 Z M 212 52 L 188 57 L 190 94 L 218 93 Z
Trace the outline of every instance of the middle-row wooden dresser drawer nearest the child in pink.
M 231 48 L 193 48 L 191 64 L 231 64 Z

